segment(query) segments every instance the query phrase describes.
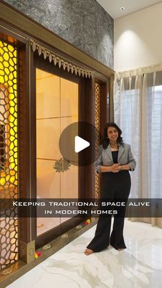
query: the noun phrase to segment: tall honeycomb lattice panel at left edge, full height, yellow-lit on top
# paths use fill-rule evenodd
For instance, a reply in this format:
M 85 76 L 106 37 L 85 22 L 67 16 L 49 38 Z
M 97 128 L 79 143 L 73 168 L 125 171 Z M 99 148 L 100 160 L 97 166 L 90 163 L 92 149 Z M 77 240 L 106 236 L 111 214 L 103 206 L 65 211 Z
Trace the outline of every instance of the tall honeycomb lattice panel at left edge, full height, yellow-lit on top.
M 18 259 L 16 209 L 4 199 L 17 198 L 17 50 L 0 41 L 0 269 Z

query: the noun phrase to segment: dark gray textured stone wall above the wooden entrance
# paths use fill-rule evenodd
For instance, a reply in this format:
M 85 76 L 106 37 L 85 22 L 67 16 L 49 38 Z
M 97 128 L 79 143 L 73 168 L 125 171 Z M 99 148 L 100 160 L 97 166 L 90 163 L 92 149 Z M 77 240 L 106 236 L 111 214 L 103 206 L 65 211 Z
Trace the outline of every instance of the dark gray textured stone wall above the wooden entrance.
M 96 0 L 5 2 L 113 68 L 114 21 Z

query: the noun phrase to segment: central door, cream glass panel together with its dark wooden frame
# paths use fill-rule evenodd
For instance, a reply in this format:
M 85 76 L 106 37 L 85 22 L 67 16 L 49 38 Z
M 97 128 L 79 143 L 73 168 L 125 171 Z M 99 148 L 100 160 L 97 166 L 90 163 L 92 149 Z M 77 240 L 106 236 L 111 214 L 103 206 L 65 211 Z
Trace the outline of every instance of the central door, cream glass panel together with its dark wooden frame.
M 89 121 L 91 110 L 85 113 L 84 105 L 90 105 L 88 99 L 91 99 L 91 79 L 71 75 L 36 55 L 33 79 L 35 119 L 32 119 L 32 126 L 36 129 L 36 174 L 33 181 L 36 199 L 54 198 L 59 201 L 84 198 L 85 171 L 88 171 L 89 167 L 68 162 L 60 153 L 59 138 L 62 131 L 72 123 Z M 69 145 L 71 141 L 67 138 L 67 149 Z M 80 177 L 84 181 L 80 181 Z M 84 219 L 81 217 L 61 216 L 34 219 L 36 246 L 44 245 L 82 220 Z

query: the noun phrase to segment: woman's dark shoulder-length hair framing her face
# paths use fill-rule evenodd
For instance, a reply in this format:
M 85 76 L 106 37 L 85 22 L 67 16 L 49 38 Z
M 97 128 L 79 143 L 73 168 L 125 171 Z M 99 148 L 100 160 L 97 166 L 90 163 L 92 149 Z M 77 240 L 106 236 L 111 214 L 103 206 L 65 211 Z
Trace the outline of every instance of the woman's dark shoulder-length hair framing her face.
M 122 130 L 119 128 L 119 126 L 117 126 L 117 124 L 115 122 L 108 122 L 104 126 L 104 137 L 103 137 L 103 143 L 102 143 L 103 148 L 106 149 L 108 147 L 108 144 L 109 144 L 109 139 L 107 138 L 108 137 L 108 134 L 107 134 L 108 127 L 115 127 L 116 128 L 116 130 L 118 132 L 117 142 L 120 145 L 124 146 L 124 141 L 123 141 L 123 138 L 121 137 Z

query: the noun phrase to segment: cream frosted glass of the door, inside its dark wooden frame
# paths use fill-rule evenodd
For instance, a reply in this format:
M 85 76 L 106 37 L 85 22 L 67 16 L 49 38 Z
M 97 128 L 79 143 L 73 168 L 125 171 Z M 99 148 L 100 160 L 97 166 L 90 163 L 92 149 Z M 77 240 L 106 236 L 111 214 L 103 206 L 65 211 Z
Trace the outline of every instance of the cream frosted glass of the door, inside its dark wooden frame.
M 62 158 L 62 130 L 78 121 L 78 84 L 36 69 L 36 192 L 37 198 L 78 199 L 78 167 L 56 172 Z M 69 145 L 68 139 L 65 145 Z M 69 218 L 38 218 L 37 236 Z

